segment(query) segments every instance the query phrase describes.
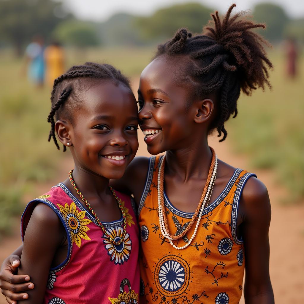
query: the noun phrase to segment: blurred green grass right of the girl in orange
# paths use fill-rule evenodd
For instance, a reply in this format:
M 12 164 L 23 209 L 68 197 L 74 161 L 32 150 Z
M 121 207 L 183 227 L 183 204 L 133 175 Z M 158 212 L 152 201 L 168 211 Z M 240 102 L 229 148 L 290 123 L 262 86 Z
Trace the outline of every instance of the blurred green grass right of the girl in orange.
M 269 168 L 289 189 L 288 203 L 304 198 L 304 62 L 294 81 L 285 74 L 284 57 L 270 53 L 275 69 L 273 89 L 241 95 L 238 116 L 227 123 L 235 152 L 248 156 L 257 168 Z M 286 198 L 285 198 L 286 199 Z

